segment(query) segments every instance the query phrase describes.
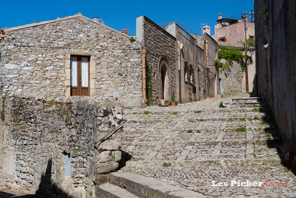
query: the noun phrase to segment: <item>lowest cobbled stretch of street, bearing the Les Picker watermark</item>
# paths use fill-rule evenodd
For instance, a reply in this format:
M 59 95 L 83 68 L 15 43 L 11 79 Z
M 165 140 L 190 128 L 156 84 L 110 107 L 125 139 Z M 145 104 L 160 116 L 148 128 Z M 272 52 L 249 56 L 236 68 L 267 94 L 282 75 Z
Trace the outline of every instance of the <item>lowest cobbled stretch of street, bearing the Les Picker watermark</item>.
M 180 186 L 214 197 L 296 197 L 296 177 L 282 165 L 195 165 L 195 166 L 155 166 L 128 168 L 122 171 L 156 178 L 168 184 Z M 287 183 L 287 186 L 231 186 L 231 180 L 264 183 L 269 175 L 269 183 Z M 228 186 L 212 186 L 212 181 L 226 182 Z M 259 193 L 259 194 L 258 194 Z M 252 196 L 253 194 L 258 194 Z

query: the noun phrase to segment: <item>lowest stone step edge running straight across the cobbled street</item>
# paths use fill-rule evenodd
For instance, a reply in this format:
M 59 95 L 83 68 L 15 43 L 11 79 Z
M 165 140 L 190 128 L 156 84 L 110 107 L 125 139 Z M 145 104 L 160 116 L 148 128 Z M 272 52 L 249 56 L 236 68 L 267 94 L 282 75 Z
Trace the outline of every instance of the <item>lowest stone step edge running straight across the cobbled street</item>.
M 285 164 L 285 160 L 282 158 L 260 158 L 260 159 L 240 159 L 240 158 L 224 158 L 224 159 L 198 159 L 198 160 L 146 160 L 146 161 L 126 161 L 120 162 L 124 164 L 125 168 L 137 168 L 137 167 L 163 167 L 164 163 L 169 166 L 197 166 L 197 165 L 222 165 L 222 166 L 234 166 L 234 165 L 279 165 Z

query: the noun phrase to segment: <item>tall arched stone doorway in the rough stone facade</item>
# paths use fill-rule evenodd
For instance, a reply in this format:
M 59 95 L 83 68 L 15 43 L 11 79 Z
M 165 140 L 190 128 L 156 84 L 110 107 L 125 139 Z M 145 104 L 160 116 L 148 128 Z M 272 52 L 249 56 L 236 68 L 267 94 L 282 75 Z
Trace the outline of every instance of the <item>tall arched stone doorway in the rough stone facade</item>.
M 159 99 L 169 100 L 170 99 L 170 67 L 168 59 L 165 55 L 160 57 L 159 60 Z

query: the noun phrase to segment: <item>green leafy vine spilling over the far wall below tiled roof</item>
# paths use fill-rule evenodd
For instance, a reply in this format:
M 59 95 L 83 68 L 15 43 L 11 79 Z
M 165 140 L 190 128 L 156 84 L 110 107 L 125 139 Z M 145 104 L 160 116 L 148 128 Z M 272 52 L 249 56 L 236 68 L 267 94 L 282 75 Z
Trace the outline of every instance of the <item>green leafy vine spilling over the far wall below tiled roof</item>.
M 219 60 L 215 60 L 215 63 L 218 65 L 218 68 L 221 68 L 223 70 L 224 68 L 230 66 L 230 64 L 234 60 L 240 64 L 240 66 L 242 68 L 242 72 L 244 72 L 244 70 L 246 68 L 246 63 L 245 63 L 246 55 L 243 55 L 244 50 L 245 50 L 245 48 L 234 49 L 232 47 L 223 46 L 220 48 L 220 50 L 218 52 Z M 226 62 L 222 63 L 221 58 L 226 59 Z M 247 55 L 247 59 L 250 59 L 250 58 L 251 57 Z

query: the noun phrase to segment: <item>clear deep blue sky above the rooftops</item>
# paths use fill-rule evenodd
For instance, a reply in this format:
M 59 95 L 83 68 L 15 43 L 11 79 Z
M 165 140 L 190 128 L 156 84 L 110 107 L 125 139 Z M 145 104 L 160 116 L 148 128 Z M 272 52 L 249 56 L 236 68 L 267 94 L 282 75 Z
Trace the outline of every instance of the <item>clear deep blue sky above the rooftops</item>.
M 214 34 L 218 13 L 232 16 L 254 9 L 253 0 L 245 1 L 2 1 L 0 28 L 82 15 L 100 17 L 107 26 L 136 34 L 136 17 L 146 15 L 157 24 L 178 21 L 201 35 L 201 23 L 208 23 Z

